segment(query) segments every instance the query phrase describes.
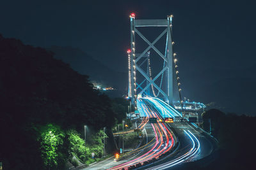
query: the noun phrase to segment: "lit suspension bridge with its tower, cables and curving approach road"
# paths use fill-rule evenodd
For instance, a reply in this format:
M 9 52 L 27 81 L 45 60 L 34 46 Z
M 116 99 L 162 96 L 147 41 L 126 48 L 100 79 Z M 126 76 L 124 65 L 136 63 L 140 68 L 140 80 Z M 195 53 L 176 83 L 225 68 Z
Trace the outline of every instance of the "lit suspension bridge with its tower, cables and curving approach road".
M 173 50 L 175 43 L 172 38 L 172 21 L 172 15 L 161 20 L 138 20 L 131 13 L 131 49 L 127 50 L 127 96 L 140 115 L 133 119 L 134 131 L 143 133 L 143 138 L 137 148 L 127 151 L 123 135 L 133 130 L 114 134 L 123 136 L 123 145 L 118 146 L 122 154 L 116 153 L 118 157 L 93 164 L 86 169 L 170 169 L 207 157 L 214 151 L 214 138 L 195 122 L 189 121 L 191 114 L 188 112 L 204 110 L 205 105 L 182 100 L 177 53 Z M 147 30 L 149 27 L 162 28 L 153 41 L 149 41 L 140 30 Z M 147 47 L 141 48 L 139 38 Z M 164 46 L 161 46 L 161 51 L 157 48 L 157 42 L 163 38 Z M 152 53 L 155 53 L 154 58 Z M 156 57 L 161 59 L 162 64 L 159 71 L 154 73 L 157 70 L 153 65 Z M 174 87 L 177 87 L 179 96 L 177 101 L 173 97 Z M 193 114 L 192 116 L 195 117 Z

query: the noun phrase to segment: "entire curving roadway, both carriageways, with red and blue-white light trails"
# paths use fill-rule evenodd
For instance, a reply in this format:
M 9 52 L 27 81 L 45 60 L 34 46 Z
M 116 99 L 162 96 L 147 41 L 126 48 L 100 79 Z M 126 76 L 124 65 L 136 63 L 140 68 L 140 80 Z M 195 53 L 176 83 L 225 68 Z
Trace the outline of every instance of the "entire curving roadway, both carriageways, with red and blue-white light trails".
M 180 117 L 180 113 L 160 99 L 145 97 L 138 99 L 140 113 L 147 117 Z M 189 162 L 206 157 L 214 150 L 214 139 L 207 136 L 195 124 L 175 122 L 172 124 L 143 125 L 143 143 L 145 145 L 124 153 L 124 160 L 116 162 L 113 157 L 98 162 L 84 169 L 127 169 L 127 167 L 158 158 L 159 155 L 171 150 L 176 143 L 178 147 L 163 159 L 156 160 L 138 169 L 169 169 L 182 162 Z M 170 131 L 173 130 L 173 132 Z M 177 136 L 177 138 L 175 137 Z

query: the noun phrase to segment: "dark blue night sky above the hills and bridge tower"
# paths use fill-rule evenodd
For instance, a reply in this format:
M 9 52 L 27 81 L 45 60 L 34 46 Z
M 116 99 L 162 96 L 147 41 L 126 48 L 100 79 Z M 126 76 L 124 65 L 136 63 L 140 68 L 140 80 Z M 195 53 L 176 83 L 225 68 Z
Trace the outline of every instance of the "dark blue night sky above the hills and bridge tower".
M 174 15 L 173 39 L 184 96 L 200 100 L 193 91 L 198 92 L 205 81 L 211 86 L 227 78 L 235 83 L 238 77 L 255 82 L 253 1 L 1 1 L 0 34 L 33 46 L 81 48 L 112 69 L 125 72 L 131 12 L 138 19 Z M 241 73 L 243 70 L 247 72 Z M 244 100 L 246 95 L 235 97 Z M 252 110 L 246 112 L 252 114 Z

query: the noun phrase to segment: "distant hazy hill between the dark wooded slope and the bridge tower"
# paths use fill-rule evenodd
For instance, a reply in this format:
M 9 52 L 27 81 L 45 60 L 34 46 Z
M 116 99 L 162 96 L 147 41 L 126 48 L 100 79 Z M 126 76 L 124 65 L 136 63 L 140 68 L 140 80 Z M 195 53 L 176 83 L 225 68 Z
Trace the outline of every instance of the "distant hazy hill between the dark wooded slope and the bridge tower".
M 91 81 L 100 83 L 105 87 L 114 87 L 121 94 L 125 90 L 124 87 L 127 88 L 127 73 L 114 71 L 110 67 L 102 64 L 99 60 L 93 59 L 93 57 L 79 48 L 51 46 L 47 50 L 54 53 L 54 58 L 70 64 L 70 67 L 78 73 L 89 75 Z M 108 57 L 107 53 L 106 57 Z

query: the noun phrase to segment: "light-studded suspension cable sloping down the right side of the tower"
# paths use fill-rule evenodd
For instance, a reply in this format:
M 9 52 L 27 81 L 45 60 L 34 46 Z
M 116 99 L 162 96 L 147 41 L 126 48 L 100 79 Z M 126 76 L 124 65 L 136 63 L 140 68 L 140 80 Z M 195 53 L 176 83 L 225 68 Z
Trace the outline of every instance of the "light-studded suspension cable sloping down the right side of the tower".
M 171 19 L 173 18 L 173 15 L 170 15 L 170 17 L 168 17 L 169 19 L 168 19 L 168 22 L 169 22 L 169 26 L 170 26 L 170 30 L 171 30 L 171 37 L 173 37 L 172 36 L 172 23 L 171 23 Z M 172 38 L 173 39 L 173 38 Z M 174 48 L 173 48 L 173 46 L 174 46 L 174 41 L 172 41 L 172 50 L 174 51 Z M 177 65 L 177 53 L 173 53 L 173 62 L 174 62 L 174 65 L 175 65 L 175 67 L 174 67 L 174 70 L 175 70 L 175 74 L 176 74 L 176 80 L 177 80 L 177 86 L 178 86 L 178 89 L 179 89 L 179 97 L 180 97 L 180 106 L 181 106 L 181 111 L 182 111 L 182 113 L 184 112 L 184 110 L 183 110 L 183 101 L 182 101 L 182 97 L 181 97 L 181 89 L 180 89 L 180 77 L 179 77 L 179 71 L 178 71 L 178 65 Z M 183 114 L 182 114 L 182 117 L 183 117 Z

